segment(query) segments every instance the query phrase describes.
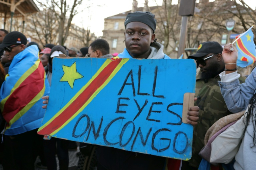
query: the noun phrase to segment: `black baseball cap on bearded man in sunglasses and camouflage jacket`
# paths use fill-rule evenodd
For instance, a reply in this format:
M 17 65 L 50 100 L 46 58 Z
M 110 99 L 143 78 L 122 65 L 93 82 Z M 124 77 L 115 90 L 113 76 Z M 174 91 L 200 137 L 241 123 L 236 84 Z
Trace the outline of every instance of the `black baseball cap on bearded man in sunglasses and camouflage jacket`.
M 222 54 L 222 51 L 223 48 L 218 42 L 208 41 L 200 44 L 197 48 L 196 53 L 188 56 L 188 58 L 200 58 L 210 53 Z

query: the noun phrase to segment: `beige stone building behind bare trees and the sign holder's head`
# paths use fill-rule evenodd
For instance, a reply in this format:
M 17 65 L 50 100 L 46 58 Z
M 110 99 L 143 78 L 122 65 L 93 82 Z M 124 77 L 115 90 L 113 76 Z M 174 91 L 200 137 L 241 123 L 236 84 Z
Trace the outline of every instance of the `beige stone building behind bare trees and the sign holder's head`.
M 181 16 L 178 15 L 179 5 L 170 4 L 169 0 L 163 0 L 163 5 L 148 7 L 145 1 L 144 7 L 136 8 L 136 0 L 133 1 L 133 8 L 130 11 L 105 18 L 102 38 L 110 46 L 110 53 L 121 53 L 125 48 L 124 43 L 124 20 L 131 11 L 151 11 L 157 20 L 156 39 L 164 45 L 164 52 L 171 58 L 177 58 L 178 45 L 181 29 Z M 227 12 L 237 12 L 234 2 L 231 0 L 200 0 L 196 3 L 194 16 L 189 17 L 186 48 L 197 48 L 205 41 L 217 41 L 221 44 L 223 37 L 228 36 L 225 24 L 229 18 L 239 23 L 239 18 Z M 234 9 L 234 10 L 233 10 Z M 243 15 L 246 15 L 246 11 Z M 243 33 L 241 25 L 236 25 L 233 33 Z M 231 41 L 231 40 L 229 40 Z M 185 55 L 185 58 L 187 56 Z

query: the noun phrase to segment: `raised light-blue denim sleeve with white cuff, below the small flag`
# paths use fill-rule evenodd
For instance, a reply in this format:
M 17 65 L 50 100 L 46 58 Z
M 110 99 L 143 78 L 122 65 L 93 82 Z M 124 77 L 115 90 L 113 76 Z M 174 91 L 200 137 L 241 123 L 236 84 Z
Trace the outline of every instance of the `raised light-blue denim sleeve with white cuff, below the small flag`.
M 220 77 L 219 86 L 228 110 L 233 113 L 246 110 L 256 89 L 256 69 L 242 84 L 238 81 L 240 74 L 237 71 L 226 75 L 222 72 Z

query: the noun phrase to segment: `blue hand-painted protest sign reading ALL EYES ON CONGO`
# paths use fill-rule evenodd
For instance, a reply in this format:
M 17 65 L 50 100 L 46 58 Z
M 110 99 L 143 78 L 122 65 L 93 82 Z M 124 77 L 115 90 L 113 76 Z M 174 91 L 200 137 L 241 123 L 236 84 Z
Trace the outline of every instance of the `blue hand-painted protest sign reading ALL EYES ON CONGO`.
M 188 160 L 193 126 L 183 96 L 195 92 L 192 59 L 54 58 L 38 134 Z

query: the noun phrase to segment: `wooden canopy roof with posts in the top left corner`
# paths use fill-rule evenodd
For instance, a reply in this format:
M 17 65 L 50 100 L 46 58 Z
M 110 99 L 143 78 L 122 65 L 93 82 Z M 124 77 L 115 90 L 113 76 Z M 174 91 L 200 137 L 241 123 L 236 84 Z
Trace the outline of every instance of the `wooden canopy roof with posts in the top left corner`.
M 33 0 L 0 0 L 0 13 L 2 14 L 2 17 L 4 17 L 4 27 L 6 24 L 6 18 L 11 18 L 10 32 L 13 16 L 23 17 L 23 32 L 26 16 L 39 11 L 40 10 Z

